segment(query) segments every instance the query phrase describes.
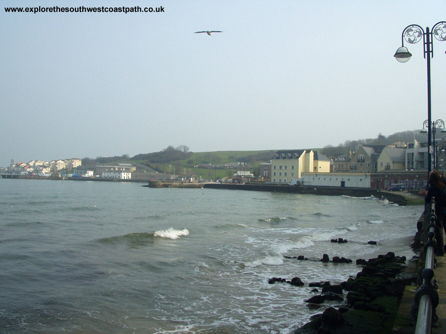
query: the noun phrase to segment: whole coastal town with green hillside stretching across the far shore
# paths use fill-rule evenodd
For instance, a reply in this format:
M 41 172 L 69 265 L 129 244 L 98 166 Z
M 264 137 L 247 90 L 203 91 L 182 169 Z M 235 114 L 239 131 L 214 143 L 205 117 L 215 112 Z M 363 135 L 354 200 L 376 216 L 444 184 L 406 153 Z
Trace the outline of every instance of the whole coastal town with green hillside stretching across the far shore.
M 446 140 L 435 141 L 432 152 L 432 167 L 442 172 L 445 170 L 445 145 Z M 254 154 L 256 152 L 261 153 Z M 189 152 L 187 146 L 181 145 L 131 159 L 128 156 L 117 157 L 121 160 L 117 162 L 92 165 L 92 162 L 97 161 L 84 159 L 87 163 L 84 166 L 83 160 L 79 158 L 28 162 L 11 160 L 8 167 L 0 168 L 0 175 L 2 178 L 82 178 L 128 182 L 249 182 L 288 186 L 394 188 L 398 191 L 421 189 L 425 187 L 427 179 L 427 143 L 419 143 L 415 139 L 411 143 L 357 143 L 348 153 L 329 157 L 315 149 L 251 151 L 251 155 L 245 157 L 236 157 L 234 152 L 227 157 L 218 153 L 206 152 L 207 161 L 236 161 L 191 165 L 195 162 L 193 153 Z M 201 154 L 203 160 L 205 153 Z M 240 161 L 243 159 L 249 162 Z

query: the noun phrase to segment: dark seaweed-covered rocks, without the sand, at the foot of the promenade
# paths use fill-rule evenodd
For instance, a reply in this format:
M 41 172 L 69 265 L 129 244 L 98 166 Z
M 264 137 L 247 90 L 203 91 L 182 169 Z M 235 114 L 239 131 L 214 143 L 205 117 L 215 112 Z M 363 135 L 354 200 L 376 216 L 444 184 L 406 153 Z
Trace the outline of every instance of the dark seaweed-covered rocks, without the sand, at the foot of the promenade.
M 406 258 L 395 256 L 393 252 L 369 260 L 358 259 L 356 264 L 362 266 L 356 278 L 336 285 L 330 282 L 309 284 L 315 287 L 314 295 L 305 300 L 309 308 L 323 307 L 326 301 L 339 304 L 313 316 L 294 334 L 392 333 L 404 288 L 416 284 L 415 266 L 408 268 Z M 291 281 L 272 278 L 269 283 L 304 286 L 298 277 Z

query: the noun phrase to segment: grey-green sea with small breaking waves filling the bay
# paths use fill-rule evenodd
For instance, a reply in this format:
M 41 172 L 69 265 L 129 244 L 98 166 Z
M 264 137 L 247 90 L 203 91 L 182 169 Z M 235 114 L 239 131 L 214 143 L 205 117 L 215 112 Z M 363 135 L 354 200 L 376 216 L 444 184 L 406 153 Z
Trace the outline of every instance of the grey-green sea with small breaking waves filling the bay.
M 323 311 L 307 307 L 308 283 L 346 281 L 385 244 L 410 258 L 422 210 L 375 197 L 2 179 L 0 332 L 292 333 Z M 323 263 L 324 253 L 353 263 Z

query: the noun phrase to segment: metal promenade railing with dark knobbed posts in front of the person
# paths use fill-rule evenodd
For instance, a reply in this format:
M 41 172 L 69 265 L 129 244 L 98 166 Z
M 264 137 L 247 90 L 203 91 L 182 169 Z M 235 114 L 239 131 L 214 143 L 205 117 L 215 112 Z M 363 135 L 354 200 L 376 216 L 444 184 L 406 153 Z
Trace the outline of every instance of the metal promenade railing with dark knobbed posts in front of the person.
M 433 322 L 438 321 L 436 307 L 439 303 L 438 285 L 434 278 L 435 255 L 443 255 L 443 227 L 435 214 L 435 198 L 428 204 L 430 224 L 427 228 L 428 240 L 424 245 L 426 254 L 425 266 L 421 271 L 423 284 L 415 293 L 415 301 L 410 309 L 410 323 L 415 324 L 415 334 L 429 334 Z M 441 240 L 437 242 L 436 237 Z

